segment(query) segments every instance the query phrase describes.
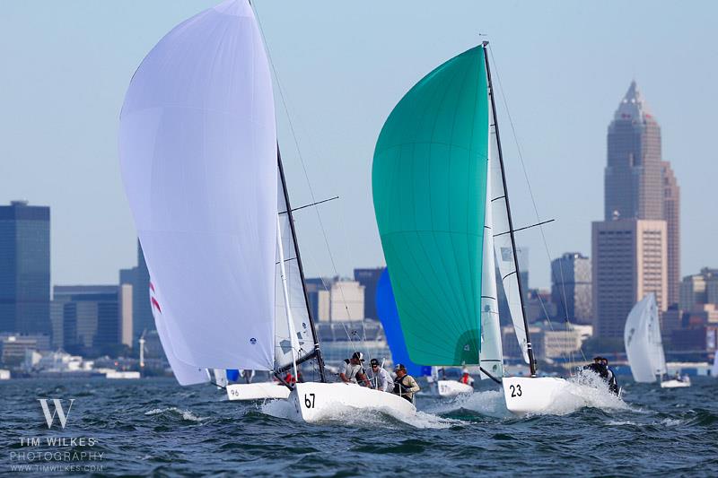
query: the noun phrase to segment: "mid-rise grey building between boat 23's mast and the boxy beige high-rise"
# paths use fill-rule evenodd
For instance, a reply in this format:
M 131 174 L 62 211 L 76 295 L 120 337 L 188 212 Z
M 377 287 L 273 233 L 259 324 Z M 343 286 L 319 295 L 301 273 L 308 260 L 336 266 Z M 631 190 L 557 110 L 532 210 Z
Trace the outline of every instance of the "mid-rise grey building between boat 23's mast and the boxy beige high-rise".
M 567 252 L 551 261 L 551 298 L 557 317 L 590 324 L 591 259 L 579 252 Z

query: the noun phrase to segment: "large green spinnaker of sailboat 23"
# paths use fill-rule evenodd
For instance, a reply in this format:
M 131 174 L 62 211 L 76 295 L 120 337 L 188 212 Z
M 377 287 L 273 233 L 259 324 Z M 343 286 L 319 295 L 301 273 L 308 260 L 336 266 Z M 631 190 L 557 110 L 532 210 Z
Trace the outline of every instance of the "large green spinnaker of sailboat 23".
M 486 207 L 483 47 L 427 74 L 391 111 L 374 151 L 381 246 L 412 361 L 477 364 Z

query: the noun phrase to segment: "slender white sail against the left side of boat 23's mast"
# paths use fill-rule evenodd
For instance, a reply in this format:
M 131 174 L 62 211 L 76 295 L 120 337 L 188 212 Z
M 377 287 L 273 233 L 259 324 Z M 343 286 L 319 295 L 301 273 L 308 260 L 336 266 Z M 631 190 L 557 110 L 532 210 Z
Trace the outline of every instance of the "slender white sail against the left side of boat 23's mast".
M 498 161 L 498 143 L 496 142 L 496 118 L 493 111 L 490 111 L 489 118 L 489 156 L 495 161 L 489 161 L 488 176 L 491 183 L 490 199 L 492 205 L 492 217 L 494 221 L 494 248 L 495 258 L 499 265 L 503 291 L 511 311 L 511 320 L 516 338 L 521 346 L 523 360 L 529 363 L 529 352 L 526 348 L 526 327 L 523 322 L 523 311 L 521 310 L 521 295 L 519 294 L 519 273 L 516 271 L 513 261 L 513 249 L 511 234 L 509 233 L 508 204 L 506 203 L 506 192 L 503 189 L 503 174 L 501 164 Z

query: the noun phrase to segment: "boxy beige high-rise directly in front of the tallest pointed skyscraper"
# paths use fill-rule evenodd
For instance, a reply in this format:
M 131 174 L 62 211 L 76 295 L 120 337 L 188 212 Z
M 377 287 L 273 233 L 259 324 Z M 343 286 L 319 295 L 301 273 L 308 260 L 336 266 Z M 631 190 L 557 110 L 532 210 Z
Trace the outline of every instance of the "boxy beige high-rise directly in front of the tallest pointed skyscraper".
M 668 308 L 666 222 L 593 222 L 591 243 L 594 331 L 622 339 L 628 313 L 646 294 L 655 294 L 660 311 Z

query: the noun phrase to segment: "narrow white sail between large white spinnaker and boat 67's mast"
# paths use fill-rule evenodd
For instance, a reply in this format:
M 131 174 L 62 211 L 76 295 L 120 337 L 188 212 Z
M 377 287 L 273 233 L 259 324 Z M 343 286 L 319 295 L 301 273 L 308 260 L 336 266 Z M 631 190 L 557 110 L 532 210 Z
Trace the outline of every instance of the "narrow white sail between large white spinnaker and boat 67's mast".
M 285 194 L 281 178 L 277 186 L 277 211 L 279 212 L 279 225 L 282 231 L 282 247 L 285 252 L 285 273 L 287 291 L 289 292 L 289 306 L 292 309 L 292 320 L 294 332 L 296 333 L 299 350 L 296 350 L 297 361 L 314 352 L 314 335 L 311 334 L 309 321 L 309 310 L 304 297 L 302 285 L 302 274 L 299 271 L 296 248 L 292 238 L 292 228 L 289 224 Z M 286 367 L 292 363 L 292 348 L 289 337 L 289 326 L 286 320 L 286 306 L 284 291 L 282 289 L 282 277 L 279 271 L 279 250 L 276 251 L 276 292 L 275 292 L 275 365 L 276 368 Z

